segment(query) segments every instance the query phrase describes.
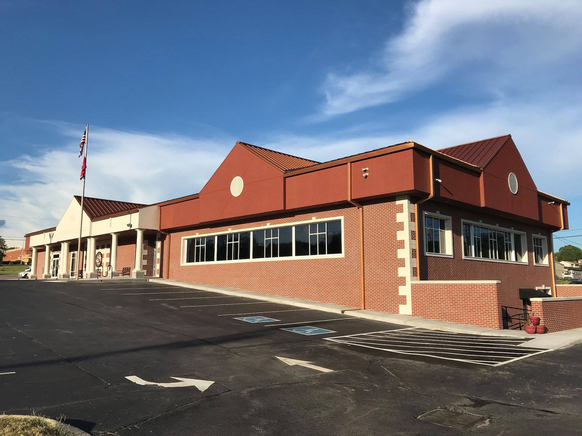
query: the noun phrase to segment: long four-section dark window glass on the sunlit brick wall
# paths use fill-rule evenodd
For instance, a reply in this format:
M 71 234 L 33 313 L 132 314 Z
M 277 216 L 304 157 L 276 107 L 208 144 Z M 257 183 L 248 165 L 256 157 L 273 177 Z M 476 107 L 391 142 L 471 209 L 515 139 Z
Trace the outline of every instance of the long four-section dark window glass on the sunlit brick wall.
M 342 254 L 342 221 L 269 227 L 183 238 L 183 262 L 214 262 Z

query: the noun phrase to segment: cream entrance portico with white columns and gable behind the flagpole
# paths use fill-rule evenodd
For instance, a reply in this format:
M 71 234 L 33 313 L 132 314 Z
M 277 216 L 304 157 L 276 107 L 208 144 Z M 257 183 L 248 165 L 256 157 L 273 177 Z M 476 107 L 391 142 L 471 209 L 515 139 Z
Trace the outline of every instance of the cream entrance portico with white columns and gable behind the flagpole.
M 112 210 L 123 209 L 117 212 Z M 80 249 L 81 206 L 73 198 L 58 226 L 27 235 L 32 248 L 30 278 L 98 278 L 155 274 L 157 206 L 85 198 Z M 44 267 L 39 265 L 42 258 Z

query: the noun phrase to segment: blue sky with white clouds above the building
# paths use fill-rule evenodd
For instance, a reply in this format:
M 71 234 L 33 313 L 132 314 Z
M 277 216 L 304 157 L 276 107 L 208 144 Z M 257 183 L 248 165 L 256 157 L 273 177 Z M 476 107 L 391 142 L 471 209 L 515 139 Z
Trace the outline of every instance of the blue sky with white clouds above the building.
M 582 228 L 580 19 L 568 0 L 0 0 L 0 234 L 56 224 L 87 122 L 87 195 L 146 203 L 197 192 L 236 140 L 328 160 L 511 133 Z

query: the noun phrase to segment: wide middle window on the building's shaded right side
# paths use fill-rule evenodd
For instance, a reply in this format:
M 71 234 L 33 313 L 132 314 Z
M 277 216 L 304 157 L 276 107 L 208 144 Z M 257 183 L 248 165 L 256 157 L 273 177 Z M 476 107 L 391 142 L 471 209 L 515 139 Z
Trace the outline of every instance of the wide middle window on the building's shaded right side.
M 527 262 L 524 237 L 509 229 L 463 223 L 463 254 L 466 258 Z

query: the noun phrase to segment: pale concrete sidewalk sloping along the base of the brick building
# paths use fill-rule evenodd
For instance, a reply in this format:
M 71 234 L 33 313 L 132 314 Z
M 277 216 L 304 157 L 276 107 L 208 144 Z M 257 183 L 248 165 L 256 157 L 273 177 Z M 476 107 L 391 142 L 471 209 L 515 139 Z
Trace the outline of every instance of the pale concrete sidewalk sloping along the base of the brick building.
M 322 310 L 324 312 L 344 313 L 349 311 L 350 316 L 370 319 L 374 321 L 384 321 L 386 323 L 401 324 L 403 326 L 424 327 L 431 330 L 450 331 L 453 333 L 466 333 L 476 335 L 501 336 L 501 337 L 518 337 L 532 339 L 522 344 L 523 346 L 542 348 L 542 349 L 560 349 L 570 345 L 582 343 L 582 328 L 572 330 L 558 331 L 555 333 L 545 333 L 543 335 L 530 335 L 520 330 L 494 330 L 491 328 L 467 326 L 466 324 L 449 323 L 447 321 L 437 321 L 416 316 L 398 315 L 396 313 L 377 312 L 376 310 L 361 310 L 350 306 L 341 306 L 331 303 L 320 303 L 317 301 L 304 300 L 301 298 L 292 298 L 289 296 L 264 294 L 262 292 L 244 291 L 240 289 L 225 288 L 222 286 L 207 285 L 202 283 L 190 283 L 180 280 L 169 280 L 167 278 L 149 278 L 151 283 L 163 283 L 168 285 L 180 286 L 203 291 L 218 292 L 219 294 L 243 296 L 245 298 L 269 301 L 272 303 L 286 304 L 306 309 Z

